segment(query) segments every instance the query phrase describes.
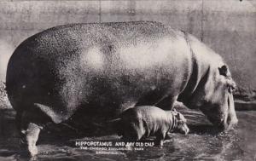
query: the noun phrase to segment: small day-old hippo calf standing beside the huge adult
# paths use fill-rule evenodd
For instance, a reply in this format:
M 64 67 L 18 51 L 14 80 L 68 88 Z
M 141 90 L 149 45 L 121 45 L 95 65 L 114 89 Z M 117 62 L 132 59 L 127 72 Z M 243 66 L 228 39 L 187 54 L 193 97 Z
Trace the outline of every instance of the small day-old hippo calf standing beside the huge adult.
M 180 112 L 164 111 L 156 106 L 135 106 L 121 113 L 117 123 L 118 134 L 124 141 L 140 141 L 156 136 L 155 145 L 163 146 L 168 132 L 188 134 L 187 120 Z

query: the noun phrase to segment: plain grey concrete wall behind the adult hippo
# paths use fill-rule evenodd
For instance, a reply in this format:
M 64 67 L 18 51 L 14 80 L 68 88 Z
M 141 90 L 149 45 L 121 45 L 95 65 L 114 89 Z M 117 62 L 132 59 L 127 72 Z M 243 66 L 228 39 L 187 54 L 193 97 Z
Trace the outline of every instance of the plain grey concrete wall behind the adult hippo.
M 0 80 L 7 60 L 26 37 L 77 22 L 155 20 L 189 32 L 223 55 L 236 83 L 256 93 L 256 1 L 1 1 Z M 255 97 L 256 98 L 256 97 Z

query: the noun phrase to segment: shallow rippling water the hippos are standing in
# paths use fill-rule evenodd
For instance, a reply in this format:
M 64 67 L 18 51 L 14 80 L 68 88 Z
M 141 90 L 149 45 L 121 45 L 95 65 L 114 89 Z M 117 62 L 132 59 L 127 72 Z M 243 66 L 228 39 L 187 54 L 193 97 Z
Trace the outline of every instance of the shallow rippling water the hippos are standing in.
M 97 129 L 96 136 L 59 125 L 49 126 L 40 135 L 36 160 L 256 160 L 256 112 L 236 112 L 239 124 L 229 133 L 216 130 L 201 112 L 182 109 L 189 120 L 189 135 L 172 134 L 163 148 L 144 147 L 143 150 L 111 151 L 115 154 L 96 154 L 93 150 L 75 147 L 74 141 L 119 141 L 117 135 L 104 135 Z M 19 136 L 15 130 L 15 112 L 0 111 L 0 160 L 27 160 L 20 151 Z M 101 133 L 102 131 L 102 134 Z M 91 130 L 90 130 L 91 131 Z M 93 134 L 90 134 L 93 135 Z M 75 137 L 73 137 L 75 136 Z M 151 141 L 151 140 L 148 140 Z

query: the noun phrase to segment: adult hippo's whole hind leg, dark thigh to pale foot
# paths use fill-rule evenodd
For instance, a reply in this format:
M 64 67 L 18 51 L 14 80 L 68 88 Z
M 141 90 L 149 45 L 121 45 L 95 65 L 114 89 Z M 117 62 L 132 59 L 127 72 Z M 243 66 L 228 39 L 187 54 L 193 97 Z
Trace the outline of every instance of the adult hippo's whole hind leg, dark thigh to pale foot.
M 35 156 L 38 153 L 36 143 L 40 130 L 49 122 L 49 118 L 43 112 L 34 109 L 27 109 L 19 115 L 16 119 L 20 120 L 20 125 L 18 125 L 21 136 L 20 146 L 25 148 L 31 156 Z

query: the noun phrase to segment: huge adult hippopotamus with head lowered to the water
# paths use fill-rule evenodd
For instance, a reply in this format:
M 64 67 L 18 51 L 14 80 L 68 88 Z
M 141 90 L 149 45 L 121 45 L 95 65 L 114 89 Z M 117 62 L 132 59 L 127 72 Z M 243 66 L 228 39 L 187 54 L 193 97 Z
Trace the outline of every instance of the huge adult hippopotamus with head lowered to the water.
M 76 112 L 102 121 L 132 106 L 198 108 L 219 129 L 237 123 L 236 83 L 222 57 L 187 32 L 159 22 L 55 26 L 9 59 L 6 90 L 32 155 L 40 129 Z

